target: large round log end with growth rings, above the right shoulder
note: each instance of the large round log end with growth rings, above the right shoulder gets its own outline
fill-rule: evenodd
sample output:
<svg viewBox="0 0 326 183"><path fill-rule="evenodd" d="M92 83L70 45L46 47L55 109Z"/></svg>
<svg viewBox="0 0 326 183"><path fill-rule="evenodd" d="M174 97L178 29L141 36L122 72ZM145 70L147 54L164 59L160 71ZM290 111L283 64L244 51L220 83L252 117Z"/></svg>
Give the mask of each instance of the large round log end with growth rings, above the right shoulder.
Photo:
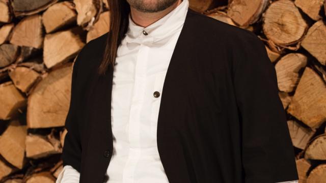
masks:
<svg viewBox="0 0 326 183"><path fill-rule="evenodd" d="M273 2L263 14L263 32L277 45L292 45L302 39L308 25L290 0Z"/></svg>

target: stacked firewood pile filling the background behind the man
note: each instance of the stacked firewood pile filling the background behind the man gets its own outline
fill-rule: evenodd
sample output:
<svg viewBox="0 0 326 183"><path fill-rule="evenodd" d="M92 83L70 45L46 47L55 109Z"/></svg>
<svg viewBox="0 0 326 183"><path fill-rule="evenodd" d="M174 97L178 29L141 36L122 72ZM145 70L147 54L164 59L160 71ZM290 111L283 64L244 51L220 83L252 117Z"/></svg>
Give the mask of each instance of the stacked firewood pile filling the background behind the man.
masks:
<svg viewBox="0 0 326 183"><path fill-rule="evenodd" d="M265 43L300 182L326 182L325 1L189 2ZM109 13L106 0L0 0L0 182L56 181L72 65L108 31Z"/></svg>

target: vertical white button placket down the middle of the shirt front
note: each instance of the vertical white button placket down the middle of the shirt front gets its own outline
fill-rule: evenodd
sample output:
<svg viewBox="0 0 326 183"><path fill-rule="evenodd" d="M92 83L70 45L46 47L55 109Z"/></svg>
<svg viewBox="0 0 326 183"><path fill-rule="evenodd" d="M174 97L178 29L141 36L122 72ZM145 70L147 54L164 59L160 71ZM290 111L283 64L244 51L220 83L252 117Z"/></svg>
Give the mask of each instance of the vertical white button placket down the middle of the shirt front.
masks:
<svg viewBox="0 0 326 183"><path fill-rule="evenodd" d="M134 182L134 171L141 157L141 110L144 101L148 47L141 44L135 64L134 87L130 104L128 125L129 155L126 162L123 180L125 183Z"/></svg>

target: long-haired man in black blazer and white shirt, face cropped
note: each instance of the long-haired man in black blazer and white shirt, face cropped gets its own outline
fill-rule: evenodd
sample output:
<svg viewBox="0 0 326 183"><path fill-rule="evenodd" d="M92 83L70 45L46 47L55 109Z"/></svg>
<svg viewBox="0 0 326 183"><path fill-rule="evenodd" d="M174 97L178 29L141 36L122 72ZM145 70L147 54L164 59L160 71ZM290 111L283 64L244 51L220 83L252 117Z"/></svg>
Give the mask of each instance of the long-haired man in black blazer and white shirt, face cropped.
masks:
<svg viewBox="0 0 326 183"><path fill-rule="evenodd" d="M297 182L277 78L251 32L188 0L109 1L73 66L57 182Z"/></svg>

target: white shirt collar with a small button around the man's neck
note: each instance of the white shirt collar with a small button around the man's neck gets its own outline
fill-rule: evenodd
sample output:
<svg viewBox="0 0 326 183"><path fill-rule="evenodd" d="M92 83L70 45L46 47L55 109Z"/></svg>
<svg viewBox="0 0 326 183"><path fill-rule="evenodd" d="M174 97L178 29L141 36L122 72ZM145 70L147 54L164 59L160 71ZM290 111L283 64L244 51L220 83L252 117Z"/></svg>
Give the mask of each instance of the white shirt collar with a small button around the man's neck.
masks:
<svg viewBox="0 0 326 183"><path fill-rule="evenodd" d="M169 38L182 27L188 6L188 0L182 0L180 5L175 9L147 27L135 24L129 13L129 25L125 38L126 42L154 43ZM143 31L145 31L147 35L144 35Z"/></svg>

